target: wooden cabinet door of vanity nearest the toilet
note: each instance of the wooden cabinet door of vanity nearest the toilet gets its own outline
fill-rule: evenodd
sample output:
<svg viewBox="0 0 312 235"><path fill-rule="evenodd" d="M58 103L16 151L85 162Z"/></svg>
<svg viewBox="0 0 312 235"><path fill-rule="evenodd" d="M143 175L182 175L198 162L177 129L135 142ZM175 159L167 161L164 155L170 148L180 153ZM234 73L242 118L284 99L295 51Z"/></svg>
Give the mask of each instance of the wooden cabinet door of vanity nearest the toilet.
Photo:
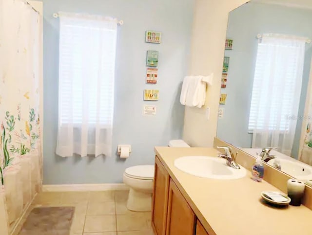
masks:
<svg viewBox="0 0 312 235"><path fill-rule="evenodd" d="M167 170L156 157L152 204L152 226L156 235L166 232L169 179Z"/></svg>

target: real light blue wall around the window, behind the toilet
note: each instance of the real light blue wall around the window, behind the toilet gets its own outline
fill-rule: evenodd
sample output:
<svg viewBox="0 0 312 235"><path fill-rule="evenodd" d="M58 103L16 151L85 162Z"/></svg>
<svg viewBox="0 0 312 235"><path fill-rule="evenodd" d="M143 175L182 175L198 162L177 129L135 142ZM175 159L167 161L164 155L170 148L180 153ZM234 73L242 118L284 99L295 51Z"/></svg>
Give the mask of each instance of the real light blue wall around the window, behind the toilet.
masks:
<svg viewBox="0 0 312 235"><path fill-rule="evenodd" d="M178 102L186 75L193 21L193 0L43 0L44 136L43 183L117 183L124 169L154 163L154 146L181 138L184 107ZM58 125L59 11L112 16L124 20L118 29L113 156L55 155ZM146 30L163 33L161 44L144 42ZM147 50L159 51L158 84L145 84ZM159 89L158 102L143 102L144 89ZM143 104L157 105L156 116L142 116ZM126 161L118 144L132 145Z"/></svg>

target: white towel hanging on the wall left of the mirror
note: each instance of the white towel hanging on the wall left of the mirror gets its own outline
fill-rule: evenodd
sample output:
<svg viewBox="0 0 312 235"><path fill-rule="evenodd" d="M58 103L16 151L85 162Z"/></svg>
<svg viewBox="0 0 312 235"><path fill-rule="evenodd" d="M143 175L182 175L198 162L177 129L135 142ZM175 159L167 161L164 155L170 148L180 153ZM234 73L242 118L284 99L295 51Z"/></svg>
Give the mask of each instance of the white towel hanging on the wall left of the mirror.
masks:
<svg viewBox="0 0 312 235"><path fill-rule="evenodd" d="M186 76L183 80L180 103L201 108L205 104L206 86L212 85L213 74L209 76Z"/></svg>

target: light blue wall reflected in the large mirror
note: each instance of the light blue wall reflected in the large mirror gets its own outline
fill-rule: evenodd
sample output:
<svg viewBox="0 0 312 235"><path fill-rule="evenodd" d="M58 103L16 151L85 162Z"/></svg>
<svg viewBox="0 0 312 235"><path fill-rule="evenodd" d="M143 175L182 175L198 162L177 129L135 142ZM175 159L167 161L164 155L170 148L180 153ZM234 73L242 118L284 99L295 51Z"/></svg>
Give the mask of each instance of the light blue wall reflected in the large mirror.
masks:
<svg viewBox="0 0 312 235"><path fill-rule="evenodd" d="M229 15L227 38L234 39L233 50L226 50L230 56L229 77L224 118L219 119L217 136L233 145L251 147L252 134L248 134L250 102L253 89L257 34L278 33L312 38L312 11L299 8L260 3L247 3ZM309 81L312 56L311 44L306 44L304 76L299 114L303 115ZM297 157L302 120L298 121L292 156Z"/></svg>

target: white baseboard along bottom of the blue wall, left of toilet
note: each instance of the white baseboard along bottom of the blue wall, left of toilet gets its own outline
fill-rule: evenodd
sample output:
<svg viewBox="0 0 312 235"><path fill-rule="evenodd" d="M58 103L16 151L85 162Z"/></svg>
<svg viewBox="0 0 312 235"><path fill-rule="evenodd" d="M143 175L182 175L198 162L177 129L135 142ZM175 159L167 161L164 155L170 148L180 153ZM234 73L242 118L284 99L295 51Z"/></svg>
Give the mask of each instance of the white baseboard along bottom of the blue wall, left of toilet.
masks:
<svg viewBox="0 0 312 235"><path fill-rule="evenodd" d="M128 190L124 183L45 184L43 192Z"/></svg>

